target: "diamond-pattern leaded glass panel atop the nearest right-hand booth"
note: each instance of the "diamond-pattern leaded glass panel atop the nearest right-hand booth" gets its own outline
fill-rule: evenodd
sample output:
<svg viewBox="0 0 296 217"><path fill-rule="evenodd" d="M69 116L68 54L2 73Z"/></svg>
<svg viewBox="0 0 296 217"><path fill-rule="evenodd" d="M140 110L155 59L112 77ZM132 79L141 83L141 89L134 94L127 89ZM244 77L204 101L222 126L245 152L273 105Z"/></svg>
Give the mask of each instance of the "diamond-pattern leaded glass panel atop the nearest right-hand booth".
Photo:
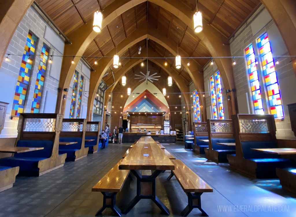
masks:
<svg viewBox="0 0 296 217"><path fill-rule="evenodd" d="M239 120L239 131L241 133L269 133L266 120Z"/></svg>

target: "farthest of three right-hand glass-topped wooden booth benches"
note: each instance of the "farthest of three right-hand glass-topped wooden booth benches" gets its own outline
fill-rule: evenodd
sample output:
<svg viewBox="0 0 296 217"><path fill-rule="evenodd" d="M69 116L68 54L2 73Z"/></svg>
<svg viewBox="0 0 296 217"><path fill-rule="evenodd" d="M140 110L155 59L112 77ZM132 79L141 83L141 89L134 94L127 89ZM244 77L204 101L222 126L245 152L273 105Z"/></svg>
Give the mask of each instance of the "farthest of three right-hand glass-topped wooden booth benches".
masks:
<svg viewBox="0 0 296 217"><path fill-rule="evenodd" d="M194 152L198 154L205 154L205 148L209 147L208 142L199 141L200 139L209 139L207 132L207 122L194 122Z"/></svg>

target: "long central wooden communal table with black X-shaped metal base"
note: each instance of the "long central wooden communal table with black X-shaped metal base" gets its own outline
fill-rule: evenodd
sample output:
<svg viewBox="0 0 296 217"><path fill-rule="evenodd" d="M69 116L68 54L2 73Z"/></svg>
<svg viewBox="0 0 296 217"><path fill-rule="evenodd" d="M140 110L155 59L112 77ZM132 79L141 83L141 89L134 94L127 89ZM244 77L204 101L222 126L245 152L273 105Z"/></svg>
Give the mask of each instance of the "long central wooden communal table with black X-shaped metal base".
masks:
<svg viewBox="0 0 296 217"><path fill-rule="evenodd" d="M155 195L155 179L163 170L174 170L175 165L168 156L161 150L150 136L142 136L136 145L119 165L121 170L130 170L137 178L136 197L128 205L123 213L128 213L141 199L151 199L166 215L170 215L168 208ZM139 170L154 170L152 175L141 175ZM149 189L141 187L147 186Z"/></svg>

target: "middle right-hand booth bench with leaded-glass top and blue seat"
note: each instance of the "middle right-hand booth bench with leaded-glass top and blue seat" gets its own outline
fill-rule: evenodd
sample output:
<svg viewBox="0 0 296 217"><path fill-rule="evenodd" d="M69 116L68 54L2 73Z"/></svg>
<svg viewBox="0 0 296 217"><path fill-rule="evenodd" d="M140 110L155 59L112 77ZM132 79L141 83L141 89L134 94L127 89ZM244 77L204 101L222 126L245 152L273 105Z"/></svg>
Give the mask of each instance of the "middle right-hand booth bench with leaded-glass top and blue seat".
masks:
<svg viewBox="0 0 296 217"><path fill-rule="evenodd" d="M227 162L227 154L235 154L235 147L217 143L235 143L231 119L207 120L209 147L205 148L206 157L215 162Z"/></svg>

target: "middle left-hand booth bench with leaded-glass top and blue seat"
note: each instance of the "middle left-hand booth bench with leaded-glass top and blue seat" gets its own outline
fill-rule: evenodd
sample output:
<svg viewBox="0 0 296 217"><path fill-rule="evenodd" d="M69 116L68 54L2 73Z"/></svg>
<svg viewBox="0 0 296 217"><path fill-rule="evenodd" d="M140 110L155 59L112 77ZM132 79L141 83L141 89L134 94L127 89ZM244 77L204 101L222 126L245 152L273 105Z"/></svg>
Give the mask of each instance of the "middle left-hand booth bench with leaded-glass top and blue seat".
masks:
<svg viewBox="0 0 296 217"><path fill-rule="evenodd" d="M87 156L88 147L84 147L86 119L63 118L60 142L76 142L70 145L59 145L59 154L67 153L66 161L75 161Z"/></svg>

